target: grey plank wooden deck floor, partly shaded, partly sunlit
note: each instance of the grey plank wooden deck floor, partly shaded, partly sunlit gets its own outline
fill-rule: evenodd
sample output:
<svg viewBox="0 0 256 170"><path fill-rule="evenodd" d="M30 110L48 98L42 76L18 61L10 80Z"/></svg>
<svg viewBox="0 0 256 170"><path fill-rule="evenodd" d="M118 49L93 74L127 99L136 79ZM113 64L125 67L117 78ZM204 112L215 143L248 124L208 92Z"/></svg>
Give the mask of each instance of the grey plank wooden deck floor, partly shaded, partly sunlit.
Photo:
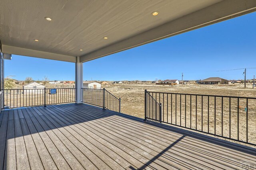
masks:
<svg viewBox="0 0 256 170"><path fill-rule="evenodd" d="M0 113L3 169L256 168L256 149L86 104Z"/></svg>

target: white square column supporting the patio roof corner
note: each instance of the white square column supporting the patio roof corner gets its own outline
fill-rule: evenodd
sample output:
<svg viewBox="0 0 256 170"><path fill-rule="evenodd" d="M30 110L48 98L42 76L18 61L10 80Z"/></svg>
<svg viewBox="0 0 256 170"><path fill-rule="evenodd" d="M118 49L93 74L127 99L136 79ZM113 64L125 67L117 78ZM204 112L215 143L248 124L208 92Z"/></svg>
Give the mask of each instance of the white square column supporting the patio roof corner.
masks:
<svg viewBox="0 0 256 170"><path fill-rule="evenodd" d="M82 102L83 87L83 63L80 62L80 57L76 60L76 103Z"/></svg>

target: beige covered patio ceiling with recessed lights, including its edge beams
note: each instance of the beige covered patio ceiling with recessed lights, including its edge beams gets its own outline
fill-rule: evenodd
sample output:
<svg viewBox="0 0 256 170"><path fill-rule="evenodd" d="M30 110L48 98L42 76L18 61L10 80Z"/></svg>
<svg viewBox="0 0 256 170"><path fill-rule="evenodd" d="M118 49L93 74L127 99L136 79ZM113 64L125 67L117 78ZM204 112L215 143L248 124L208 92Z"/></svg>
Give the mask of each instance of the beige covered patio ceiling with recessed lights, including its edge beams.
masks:
<svg viewBox="0 0 256 170"><path fill-rule="evenodd" d="M85 62L255 10L256 0L1 0L0 40L3 53Z"/></svg>

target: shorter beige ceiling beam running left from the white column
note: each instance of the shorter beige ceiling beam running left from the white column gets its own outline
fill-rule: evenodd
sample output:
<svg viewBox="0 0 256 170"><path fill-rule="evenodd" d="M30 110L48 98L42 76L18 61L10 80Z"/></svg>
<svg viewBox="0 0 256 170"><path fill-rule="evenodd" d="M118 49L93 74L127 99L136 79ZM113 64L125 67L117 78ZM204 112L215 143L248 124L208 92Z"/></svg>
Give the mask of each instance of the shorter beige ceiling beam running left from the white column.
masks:
<svg viewBox="0 0 256 170"><path fill-rule="evenodd" d="M2 45L2 53L76 63L76 57L73 57L73 56L61 55L56 53L48 53L45 51L37 51L32 49L24 49L20 47L9 46L9 45Z"/></svg>

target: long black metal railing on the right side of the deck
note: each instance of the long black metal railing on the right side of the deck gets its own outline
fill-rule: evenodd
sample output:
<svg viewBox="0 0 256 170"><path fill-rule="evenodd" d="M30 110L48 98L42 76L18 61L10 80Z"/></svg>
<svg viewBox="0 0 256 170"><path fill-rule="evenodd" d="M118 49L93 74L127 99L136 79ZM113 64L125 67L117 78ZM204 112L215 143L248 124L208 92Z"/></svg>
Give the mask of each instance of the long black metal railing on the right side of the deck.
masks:
<svg viewBox="0 0 256 170"><path fill-rule="evenodd" d="M145 90L145 120L256 145L256 98Z"/></svg>

